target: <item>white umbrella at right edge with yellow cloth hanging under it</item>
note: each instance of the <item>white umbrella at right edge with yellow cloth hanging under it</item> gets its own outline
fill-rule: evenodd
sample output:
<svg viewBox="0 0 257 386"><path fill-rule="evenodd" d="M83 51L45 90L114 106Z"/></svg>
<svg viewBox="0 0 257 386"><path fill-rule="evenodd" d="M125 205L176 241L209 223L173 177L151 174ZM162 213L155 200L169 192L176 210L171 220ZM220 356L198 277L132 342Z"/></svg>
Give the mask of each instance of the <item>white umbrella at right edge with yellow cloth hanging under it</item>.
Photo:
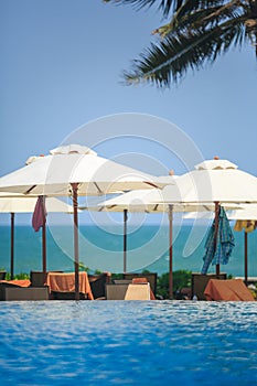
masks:
<svg viewBox="0 0 257 386"><path fill-rule="evenodd" d="M240 210L228 214L229 219L236 219L235 230L244 229L245 248L245 283L248 281L248 233L253 232L257 225L257 204L243 204Z"/></svg>

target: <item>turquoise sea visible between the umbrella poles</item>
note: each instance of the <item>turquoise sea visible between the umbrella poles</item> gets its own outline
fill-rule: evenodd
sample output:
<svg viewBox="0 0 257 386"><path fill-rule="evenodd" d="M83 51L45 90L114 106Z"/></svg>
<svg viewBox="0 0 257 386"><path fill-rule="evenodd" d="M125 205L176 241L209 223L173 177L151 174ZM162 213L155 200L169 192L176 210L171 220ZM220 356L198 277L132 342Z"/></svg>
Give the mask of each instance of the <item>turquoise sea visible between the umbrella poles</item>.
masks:
<svg viewBox="0 0 257 386"><path fill-rule="evenodd" d="M203 266L206 226L173 227L173 270L200 272ZM221 271L244 277L244 233L234 232L235 247ZM18 225L14 228L14 274L42 269L41 230ZM0 226L0 269L10 271L10 227ZM46 232L47 270L72 271L73 228L52 225ZM120 226L79 226L79 261L95 270L122 272L124 236ZM158 275L169 271L169 226L128 227L127 271L148 269ZM210 274L215 272L211 266ZM248 276L257 277L257 232L248 234Z"/></svg>

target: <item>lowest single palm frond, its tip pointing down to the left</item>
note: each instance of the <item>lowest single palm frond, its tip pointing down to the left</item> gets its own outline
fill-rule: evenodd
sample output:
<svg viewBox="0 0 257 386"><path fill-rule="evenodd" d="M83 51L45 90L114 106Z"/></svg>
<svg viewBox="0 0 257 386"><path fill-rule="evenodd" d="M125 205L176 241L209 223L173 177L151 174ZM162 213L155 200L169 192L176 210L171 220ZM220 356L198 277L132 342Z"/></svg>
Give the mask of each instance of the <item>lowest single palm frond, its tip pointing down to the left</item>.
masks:
<svg viewBox="0 0 257 386"><path fill-rule="evenodd" d="M199 69L206 62L213 63L232 44L244 41L244 18L228 20L208 31L182 32L167 36L159 45L151 47L133 62L131 72L125 72L127 84L154 83L169 87L190 68Z"/></svg>

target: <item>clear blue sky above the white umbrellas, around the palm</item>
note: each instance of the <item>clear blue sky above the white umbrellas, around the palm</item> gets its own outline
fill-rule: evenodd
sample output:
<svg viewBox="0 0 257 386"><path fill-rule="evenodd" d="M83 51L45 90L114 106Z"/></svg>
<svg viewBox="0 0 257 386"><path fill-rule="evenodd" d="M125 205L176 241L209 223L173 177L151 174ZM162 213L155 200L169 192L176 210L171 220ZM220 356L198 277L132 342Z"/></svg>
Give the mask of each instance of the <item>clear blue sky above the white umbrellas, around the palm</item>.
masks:
<svg viewBox="0 0 257 386"><path fill-rule="evenodd" d="M137 154L126 162L138 169L140 157L149 157L148 172L157 175L186 171L184 158L192 149L257 175L251 46L231 50L170 89L122 83L122 71L158 39L151 31L164 22L156 9L135 11L101 0L1 0L0 175L77 138L84 144L88 139L101 157ZM126 126L130 117L138 137ZM148 128L147 117L154 127ZM179 151L174 127L186 139Z"/></svg>

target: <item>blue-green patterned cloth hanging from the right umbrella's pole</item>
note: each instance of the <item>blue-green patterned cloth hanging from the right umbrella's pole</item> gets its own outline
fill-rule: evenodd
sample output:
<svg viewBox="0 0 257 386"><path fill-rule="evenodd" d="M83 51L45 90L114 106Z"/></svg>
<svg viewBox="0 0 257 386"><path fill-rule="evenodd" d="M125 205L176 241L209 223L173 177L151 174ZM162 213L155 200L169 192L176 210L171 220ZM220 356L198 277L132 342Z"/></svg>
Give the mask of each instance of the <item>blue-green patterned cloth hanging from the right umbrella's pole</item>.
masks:
<svg viewBox="0 0 257 386"><path fill-rule="evenodd" d="M202 274L206 275L210 265L227 264L232 255L232 250L235 246L234 236L229 222L226 216L226 212L223 207L219 207L218 214L218 229L215 237L215 221L213 222L207 239L205 242L205 256L203 257L204 265Z"/></svg>

